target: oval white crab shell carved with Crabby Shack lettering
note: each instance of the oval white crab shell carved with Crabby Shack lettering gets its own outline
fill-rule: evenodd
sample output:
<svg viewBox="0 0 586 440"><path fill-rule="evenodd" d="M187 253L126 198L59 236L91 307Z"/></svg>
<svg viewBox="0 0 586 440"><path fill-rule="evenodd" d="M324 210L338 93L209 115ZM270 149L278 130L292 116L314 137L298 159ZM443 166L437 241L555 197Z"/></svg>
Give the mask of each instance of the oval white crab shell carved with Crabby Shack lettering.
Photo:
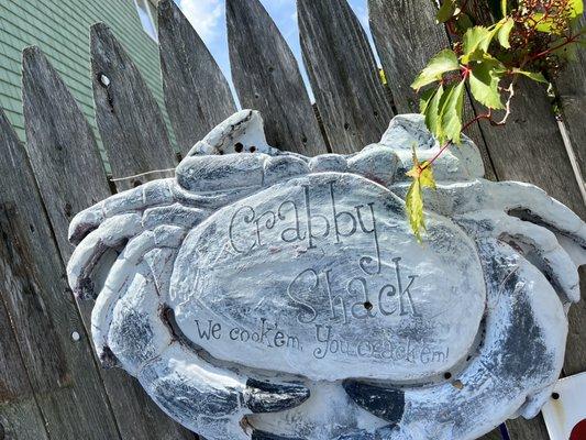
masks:
<svg viewBox="0 0 586 440"><path fill-rule="evenodd" d="M191 230L169 307L219 360L313 381L430 380L465 361L486 294L473 241L446 218L428 224L422 245L402 200L354 174L285 180Z"/></svg>

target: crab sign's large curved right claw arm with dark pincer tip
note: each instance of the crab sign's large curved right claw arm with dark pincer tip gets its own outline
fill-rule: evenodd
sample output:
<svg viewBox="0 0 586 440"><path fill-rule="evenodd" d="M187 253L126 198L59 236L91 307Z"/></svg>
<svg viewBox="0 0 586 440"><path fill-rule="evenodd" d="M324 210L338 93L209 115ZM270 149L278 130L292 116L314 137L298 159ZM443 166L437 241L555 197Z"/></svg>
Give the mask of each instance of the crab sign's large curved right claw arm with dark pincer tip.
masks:
<svg viewBox="0 0 586 440"><path fill-rule="evenodd" d="M349 381L357 405L389 424L380 440L475 439L493 420L534 417L557 380L565 312L544 276L509 245L478 241L487 282L485 336L449 382L410 388ZM489 414L488 414L489 413Z"/></svg>

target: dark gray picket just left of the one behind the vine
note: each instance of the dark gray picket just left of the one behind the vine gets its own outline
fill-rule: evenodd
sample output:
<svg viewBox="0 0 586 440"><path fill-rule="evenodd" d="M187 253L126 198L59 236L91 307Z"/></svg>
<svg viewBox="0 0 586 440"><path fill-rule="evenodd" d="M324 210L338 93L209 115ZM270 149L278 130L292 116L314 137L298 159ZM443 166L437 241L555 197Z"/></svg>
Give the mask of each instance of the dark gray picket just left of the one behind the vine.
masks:
<svg viewBox="0 0 586 440"><path fill-rule="evenodd" d="M371 44L346 0L298 0L303 61L335 153L380 141L392 118Z"/></svg>

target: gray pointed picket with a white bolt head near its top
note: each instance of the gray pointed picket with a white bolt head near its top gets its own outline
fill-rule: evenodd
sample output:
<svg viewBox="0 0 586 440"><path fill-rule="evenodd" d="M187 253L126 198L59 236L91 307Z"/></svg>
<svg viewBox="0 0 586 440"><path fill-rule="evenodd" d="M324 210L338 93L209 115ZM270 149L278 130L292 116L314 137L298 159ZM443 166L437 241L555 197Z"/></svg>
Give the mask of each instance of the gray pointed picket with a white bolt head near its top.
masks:
<svg viewBox="0 0 586 440"><path fill-rule="evenodd" d="M112 174L126 177L175 166L161 109L139 69L103 23L91 28L91 68L96 120ZM153 174L120 182L119 189L140 185Z"/></svg>

